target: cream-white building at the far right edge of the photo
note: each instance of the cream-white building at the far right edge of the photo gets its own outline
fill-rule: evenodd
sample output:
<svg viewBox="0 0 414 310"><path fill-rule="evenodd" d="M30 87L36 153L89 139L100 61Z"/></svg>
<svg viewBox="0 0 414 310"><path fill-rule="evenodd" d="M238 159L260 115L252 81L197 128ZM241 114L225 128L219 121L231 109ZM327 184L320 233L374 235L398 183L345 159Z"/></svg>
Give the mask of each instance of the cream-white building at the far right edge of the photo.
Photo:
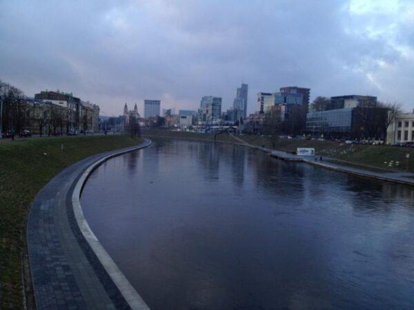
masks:
<svg viewBox="0 0 414 310"><path fill-rule="evenodd" d="M414 142L414 111L397 114L386 132L386 143L404 142Z"/></svg>

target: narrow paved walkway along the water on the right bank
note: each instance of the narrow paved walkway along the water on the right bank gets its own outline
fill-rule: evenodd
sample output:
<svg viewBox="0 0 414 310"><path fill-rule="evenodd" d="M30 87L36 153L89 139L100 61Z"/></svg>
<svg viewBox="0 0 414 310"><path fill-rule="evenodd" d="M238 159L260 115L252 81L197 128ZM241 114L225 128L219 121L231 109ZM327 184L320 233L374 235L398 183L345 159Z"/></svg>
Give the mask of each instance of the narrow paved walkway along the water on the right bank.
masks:
<svg viewBox="0 0 414 310"><path fill-rule="evenodd" d="M402 183L406 185L414 185L414 173L412 172L374 172L371 170L366 170L357 167L350 167L346 165L341 165L340 163L332 163L328 161L315 161L315 158L319 158L319 156L297 156L294 154L290 154L288 152L277 151L275 149L269 149L268 147L259 147L257 145L252 145L247 143L246 141L242 140L237 136L232 135L235 140L239 141L240 144L246 145L249 147L253 147L255 149L260 149L266 153L269 153L277 158L286 160L286 161L302 161L304 163L308 163L311 165L317 165L319 167L333 169L339 172L346 172L348 174L355 174L357 176L364 176L367 178L376 178L379 180L386 180L395 183ZM331 159L326 158L325 159ZM378 169L380 170L380 169Z"/></svg>

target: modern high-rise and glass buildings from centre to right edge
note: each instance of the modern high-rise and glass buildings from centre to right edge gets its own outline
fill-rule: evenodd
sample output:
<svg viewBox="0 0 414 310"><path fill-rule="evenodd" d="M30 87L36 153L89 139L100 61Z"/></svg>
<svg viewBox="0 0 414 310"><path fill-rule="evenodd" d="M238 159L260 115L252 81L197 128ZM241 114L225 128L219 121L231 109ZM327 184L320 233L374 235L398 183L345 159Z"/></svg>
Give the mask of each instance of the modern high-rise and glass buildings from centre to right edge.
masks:
<svg viewBox="0 0 414 310"><path fill-rule="evenodd" d="M139 124L197 132L231 126L250 134L353 140L384 141L388 134L388 143L414 141L413 114L397 113L397 107L380 103L375 96L319 96L312 103L310 98L311 89L307 87L284 86L277 92L258 92L257 111L248 115L248 85L242 83L226 111L220 96L202 96L197 111L177 113L175 107L169 107L162 109L161 115L160 101L146 100ZM398 121L400 118L402 121Z"/></svg>

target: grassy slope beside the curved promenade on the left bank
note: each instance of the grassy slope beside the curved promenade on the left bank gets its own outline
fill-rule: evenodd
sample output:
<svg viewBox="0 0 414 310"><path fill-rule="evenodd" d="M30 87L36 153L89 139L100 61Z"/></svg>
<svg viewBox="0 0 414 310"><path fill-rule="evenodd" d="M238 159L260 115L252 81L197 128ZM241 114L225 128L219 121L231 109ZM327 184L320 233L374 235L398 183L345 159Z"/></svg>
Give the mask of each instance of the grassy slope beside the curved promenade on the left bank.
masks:
<svg viewBox="0 0 414 310"><path fill-rule="evenodd" d="M21 254L28 209L37 192L82 158L140 142L129 136L79 136L0 143L0 309L23 304Z"/></svg>

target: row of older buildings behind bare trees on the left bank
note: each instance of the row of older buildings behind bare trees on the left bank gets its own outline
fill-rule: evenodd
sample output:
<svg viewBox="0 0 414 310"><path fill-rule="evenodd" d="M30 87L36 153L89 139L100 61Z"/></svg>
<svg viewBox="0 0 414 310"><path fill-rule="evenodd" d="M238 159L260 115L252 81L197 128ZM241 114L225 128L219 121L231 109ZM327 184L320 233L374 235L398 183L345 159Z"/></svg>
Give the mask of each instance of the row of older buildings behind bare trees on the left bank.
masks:
<svg viewBox="0 0 414 310"><path fill-rule="evenodd" d="M72 93L44 90L34 97L1 83L1 136L99 131L99 106Z"/></svg>

